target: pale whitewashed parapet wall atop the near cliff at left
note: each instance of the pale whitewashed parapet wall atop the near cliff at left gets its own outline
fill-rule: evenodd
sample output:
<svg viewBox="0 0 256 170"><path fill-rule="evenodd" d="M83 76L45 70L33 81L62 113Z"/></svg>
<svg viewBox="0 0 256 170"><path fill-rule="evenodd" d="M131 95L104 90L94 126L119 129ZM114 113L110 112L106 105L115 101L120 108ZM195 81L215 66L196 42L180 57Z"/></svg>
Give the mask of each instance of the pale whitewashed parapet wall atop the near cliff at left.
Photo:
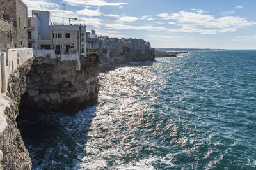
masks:
<svg viewBox="0 0 256 170"><path fill-rule="evenodd" d="M1 52L1 92L6 92L8 78L20 65L33 57L32 48L10 49Z"/></svg>

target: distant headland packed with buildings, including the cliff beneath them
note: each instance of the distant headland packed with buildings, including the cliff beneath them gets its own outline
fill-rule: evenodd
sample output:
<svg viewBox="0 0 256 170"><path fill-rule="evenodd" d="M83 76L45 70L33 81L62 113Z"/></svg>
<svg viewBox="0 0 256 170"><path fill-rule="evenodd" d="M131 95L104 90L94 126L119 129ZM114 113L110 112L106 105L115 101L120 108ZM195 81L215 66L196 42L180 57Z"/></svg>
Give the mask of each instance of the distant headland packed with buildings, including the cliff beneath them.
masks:
<svg viewBox="0 0 256 170"><path fill-rule="evenodd" d="M86 47L100 53L100 69L108 70L124 62L148 61L155 59L155 50L143 39L113 38L97 36L95 30L86 32Z"/></svg>

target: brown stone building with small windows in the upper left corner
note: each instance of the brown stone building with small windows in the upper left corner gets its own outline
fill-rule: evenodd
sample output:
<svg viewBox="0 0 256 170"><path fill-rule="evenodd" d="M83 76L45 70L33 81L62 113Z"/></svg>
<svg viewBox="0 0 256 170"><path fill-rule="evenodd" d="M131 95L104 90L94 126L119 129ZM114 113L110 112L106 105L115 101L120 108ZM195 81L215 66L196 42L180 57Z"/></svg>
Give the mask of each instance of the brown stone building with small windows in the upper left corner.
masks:
<svg viewBox="0 0 256 170"><path fill-rule="evenodd" d="M0 0L0 18L0 49L28 47L26 4L21 0Z"/></svg>

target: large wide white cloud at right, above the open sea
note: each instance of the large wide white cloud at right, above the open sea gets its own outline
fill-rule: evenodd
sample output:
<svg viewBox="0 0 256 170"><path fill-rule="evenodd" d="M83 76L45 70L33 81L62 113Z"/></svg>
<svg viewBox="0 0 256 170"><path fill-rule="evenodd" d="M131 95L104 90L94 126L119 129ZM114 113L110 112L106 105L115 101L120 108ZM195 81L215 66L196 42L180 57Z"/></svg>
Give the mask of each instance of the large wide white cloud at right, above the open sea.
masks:
<svg viewBox="0 0 256 170"><path fill-rule="evenodd" d="M247 21L246 18L225 16L215 18L213 15L180 11L179 13L160 13L157 15L165 20L173 20L169 24L179 26L171 32L198 32L199 34L216 34L234 32L255 25L256 22Z"/></svg>

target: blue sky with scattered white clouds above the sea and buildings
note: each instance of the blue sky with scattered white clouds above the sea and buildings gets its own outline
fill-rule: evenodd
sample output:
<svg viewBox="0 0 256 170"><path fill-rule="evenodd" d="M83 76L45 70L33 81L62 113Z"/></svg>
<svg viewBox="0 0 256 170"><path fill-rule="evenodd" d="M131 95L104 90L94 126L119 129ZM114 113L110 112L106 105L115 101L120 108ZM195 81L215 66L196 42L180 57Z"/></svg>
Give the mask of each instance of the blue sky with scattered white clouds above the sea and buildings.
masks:
<svg viewBox="0 0 256 170"><path fill-rule="evenodd" d="M100 36L142 38L152 47L256 49L255 0L22 0L51 22L86 24ZM65 24L68 20L65 19Z"/></svg>

